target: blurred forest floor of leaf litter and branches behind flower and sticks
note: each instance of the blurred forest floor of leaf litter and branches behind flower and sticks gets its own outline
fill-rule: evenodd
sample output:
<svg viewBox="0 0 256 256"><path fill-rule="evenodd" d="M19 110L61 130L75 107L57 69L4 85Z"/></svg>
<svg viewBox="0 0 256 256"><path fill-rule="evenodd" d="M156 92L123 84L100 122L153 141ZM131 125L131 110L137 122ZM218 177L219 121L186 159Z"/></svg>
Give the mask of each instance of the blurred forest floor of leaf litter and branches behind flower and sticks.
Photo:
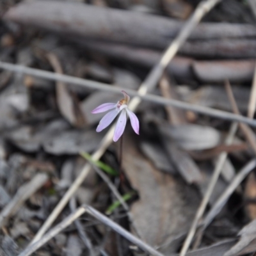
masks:
<svg viewBox="0 0 256 256"><path fill-rule="evenodd" d="M0 255L18 255L28 246L100 147L108 129L95 131L104 114L92 115L92 109L122 99L122 93L44 79L36 70L120 92L138 90L198 3L0 0ZM253 118L255 22L256 1L220 1L150 93ZM11 72L1 63L35 68L34 74ZM179 255L219 164L201 218L204 228L196 230L188 255L254 255L255 129L144 100L135 112L140 136L128 122L122 151L120 141L112 143L100 159L100 172L127 207L116 203L108 182L92 168L56 223L79 205L92 205L164 255ZM227 154L222 164L220 154ZM231 192L224 195L227 188ZM237 234L244 243L236 244ZM35 255L147 253L83 215Z"/></svg>

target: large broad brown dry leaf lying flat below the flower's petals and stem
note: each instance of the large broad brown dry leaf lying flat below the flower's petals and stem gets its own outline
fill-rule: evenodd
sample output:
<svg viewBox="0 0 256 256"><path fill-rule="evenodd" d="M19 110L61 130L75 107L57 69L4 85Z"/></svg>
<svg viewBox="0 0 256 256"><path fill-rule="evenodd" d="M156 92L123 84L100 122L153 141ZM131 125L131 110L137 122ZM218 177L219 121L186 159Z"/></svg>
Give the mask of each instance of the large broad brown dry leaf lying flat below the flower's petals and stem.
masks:
<svg viewBox="0 0 256 256"><path fill-rule="evenodd" d="M131 137L125 140L124 170L140 196L131 212L142 239L152 246L165 244L162 251L173 252L175 248L168 248L168 244L188 230L195 214L199 202L195 191L154 168Z"/></svg>

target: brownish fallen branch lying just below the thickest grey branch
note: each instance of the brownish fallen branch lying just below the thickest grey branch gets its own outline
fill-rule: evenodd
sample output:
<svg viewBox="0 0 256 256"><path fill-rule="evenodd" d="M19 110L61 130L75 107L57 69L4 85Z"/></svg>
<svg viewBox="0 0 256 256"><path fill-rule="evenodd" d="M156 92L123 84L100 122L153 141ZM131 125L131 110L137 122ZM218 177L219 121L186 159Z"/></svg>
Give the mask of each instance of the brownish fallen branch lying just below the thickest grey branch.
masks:
<svg viewBox="0 0 256 256"><path fill-rule="evenodd" d="M97 54L103 54L108 58L118 61L129 61L146 68L153 67L161 57L161 52L152 49L111 44L97 40L78 40L76 38L72 38L72 42L76 42L76 45L81 47L81 49L86 49L88 54L90 52L97 52ZM225 52L227 52L227 49L225 49L223 54ZM236 52L240 51L232 50L230 54L232 52L237 54ZM223 56L225 55L221 57ZM225 79L239 83L252 80L254 67L255 60L194 61L191 58L176 56L168 65L166 71L181 83L184 83L184 81L189 83L189 80L193 81L195 77L204 83L223 83Z"/></svg>

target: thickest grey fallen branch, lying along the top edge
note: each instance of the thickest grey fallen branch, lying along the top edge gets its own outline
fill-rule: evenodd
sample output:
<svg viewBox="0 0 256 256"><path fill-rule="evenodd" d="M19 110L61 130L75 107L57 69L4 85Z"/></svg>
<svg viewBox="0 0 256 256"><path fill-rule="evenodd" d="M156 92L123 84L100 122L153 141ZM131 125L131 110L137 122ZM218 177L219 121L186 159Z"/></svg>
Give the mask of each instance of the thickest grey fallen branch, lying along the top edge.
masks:
<svg viewBox="0 0 256 256"><path fill-rule="evenodd" d="M208 12L207 8L201 10ZM141 15L136 12L59 1L23 2L10 8L4 19L62 35L86 36L160 49L167 47L184 26L183 22L157 15ZM255 26L204 23L189 33L189 38L198 40L246 36L256 36Z"/></svg>

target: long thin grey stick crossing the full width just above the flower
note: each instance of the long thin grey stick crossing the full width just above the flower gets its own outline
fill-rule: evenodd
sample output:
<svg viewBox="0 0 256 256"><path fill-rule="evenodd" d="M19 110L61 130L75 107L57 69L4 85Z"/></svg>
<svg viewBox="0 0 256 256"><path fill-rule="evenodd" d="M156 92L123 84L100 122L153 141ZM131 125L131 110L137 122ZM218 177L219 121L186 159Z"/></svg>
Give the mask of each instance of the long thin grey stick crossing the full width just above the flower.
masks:
<svg viewBox="0 0 256 256"><path fill-rule="evenodd" d="M120 91L123 89L129 95L138 96L141 99L147 100L149 102L154 102L156 104L161 104L164 106L173 106L175 108L194 111L196 113L200 113L203 115L209 115L209 116L213 116L216 118L221 118L224 120L244 122L246 124L256 127L256 121L252 120L250 118L246 118L245 116L234 115L233 113L228 113L226 111L221 111L218 109L207 108L204 106L196 106L194 104L189 104L187 102L182 102L180 100L164 99L164 97L152 95L152 94L142 95L134 90L122 88L119 86L111 86L109 84L104 84L104 83L99 83L96 81L81 79L79 77L72 77L72 76L67 76L67 75L63 75L63 74L56 74L53 72L39 70L36 68L29 68L29 67L24 67L21 65L4 63L2 61L0 61L0 68L4 68L6 70L11 70L13 72L20 72L23 74L28 74L31 76L42 77L42 78L50 79L50 80L54 80L54 81L62 81L65 83L77 84L80 86L84 86L86 88L92 88L93 90L97 89L97 90L102 90L105 92L120 93Z"/></svg>

